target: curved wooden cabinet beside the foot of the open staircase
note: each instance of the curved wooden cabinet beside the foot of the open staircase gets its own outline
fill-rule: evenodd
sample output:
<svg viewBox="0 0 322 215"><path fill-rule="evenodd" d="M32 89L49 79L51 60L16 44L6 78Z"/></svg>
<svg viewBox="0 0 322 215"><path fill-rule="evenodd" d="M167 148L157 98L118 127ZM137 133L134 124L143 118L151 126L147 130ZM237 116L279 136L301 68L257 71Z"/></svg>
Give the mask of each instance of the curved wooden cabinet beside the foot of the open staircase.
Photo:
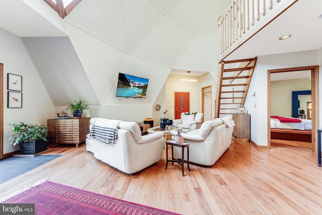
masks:
<svg viewBox="0 0 322 215"><path fill-rule="evenodd" d="M233 135L237 137L237 141L249 142L251 140L251 115L250 114L232 114L235 122Z"/></svg>

